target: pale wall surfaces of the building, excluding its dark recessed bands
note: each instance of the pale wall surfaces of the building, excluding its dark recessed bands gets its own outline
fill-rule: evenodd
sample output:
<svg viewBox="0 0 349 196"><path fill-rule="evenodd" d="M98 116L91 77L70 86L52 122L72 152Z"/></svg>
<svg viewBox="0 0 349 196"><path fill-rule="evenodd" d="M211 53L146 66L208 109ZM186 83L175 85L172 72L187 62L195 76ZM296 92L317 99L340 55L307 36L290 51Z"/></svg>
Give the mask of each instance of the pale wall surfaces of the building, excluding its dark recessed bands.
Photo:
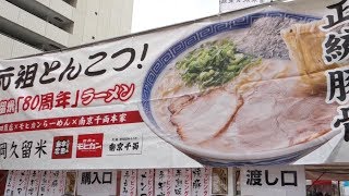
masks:
<svg viewBox="0 0 349 196"><path fill-rule="evenodd" d="M4 17L65 47L73 47L131 33L133 0L77 0L75 8L62 0L33 1L37 1L73 21L73 30L68 33L58 28L8 1L1 1L0 17ZM22 46L22 42L12 40L10 37L3 37L2 35L0 36L0 44L9 47L2 47L0 49L0 58L39 52L39 50L32 47L27 49L27 45ZM93 39L93 37L95 39ZM20 48L16 49L15 47Z"/></svg>

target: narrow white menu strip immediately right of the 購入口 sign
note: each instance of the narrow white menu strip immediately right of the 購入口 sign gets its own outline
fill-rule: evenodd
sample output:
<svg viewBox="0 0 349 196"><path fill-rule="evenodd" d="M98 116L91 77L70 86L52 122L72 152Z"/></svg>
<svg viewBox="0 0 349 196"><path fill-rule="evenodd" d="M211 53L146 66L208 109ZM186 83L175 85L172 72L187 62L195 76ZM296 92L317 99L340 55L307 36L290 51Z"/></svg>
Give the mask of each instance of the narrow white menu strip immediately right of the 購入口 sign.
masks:
<svg viewBox="0 0 349 196"><path fill-rule="evenodd" d="M136 196L137 194L137 170L122 170L120 196Z"/></svg>

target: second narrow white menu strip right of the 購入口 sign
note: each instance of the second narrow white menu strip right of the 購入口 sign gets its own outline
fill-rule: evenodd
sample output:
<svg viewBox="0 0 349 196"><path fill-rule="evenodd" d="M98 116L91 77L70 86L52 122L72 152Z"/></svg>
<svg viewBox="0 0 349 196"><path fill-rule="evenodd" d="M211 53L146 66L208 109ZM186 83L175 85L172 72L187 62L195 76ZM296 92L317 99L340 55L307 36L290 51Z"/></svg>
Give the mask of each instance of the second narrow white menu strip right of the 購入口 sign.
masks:
<svg viewBox="0 0 349 196"><path fill-rule="evenodd" d="M137 170L137 194L154 195L154 169Z"/></svg>

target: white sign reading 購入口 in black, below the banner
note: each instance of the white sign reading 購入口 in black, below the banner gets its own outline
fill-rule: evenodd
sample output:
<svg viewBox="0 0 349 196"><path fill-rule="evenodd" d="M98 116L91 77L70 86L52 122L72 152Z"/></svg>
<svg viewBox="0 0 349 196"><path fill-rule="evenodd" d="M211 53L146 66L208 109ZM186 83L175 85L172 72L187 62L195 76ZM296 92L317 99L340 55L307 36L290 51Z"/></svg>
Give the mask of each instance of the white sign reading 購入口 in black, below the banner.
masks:
<svg viewBox="0 0 349 196"><path fill-rule="evenodd" d="M77 195L117 195L117 171L83 170L77 175Z"/></svg>

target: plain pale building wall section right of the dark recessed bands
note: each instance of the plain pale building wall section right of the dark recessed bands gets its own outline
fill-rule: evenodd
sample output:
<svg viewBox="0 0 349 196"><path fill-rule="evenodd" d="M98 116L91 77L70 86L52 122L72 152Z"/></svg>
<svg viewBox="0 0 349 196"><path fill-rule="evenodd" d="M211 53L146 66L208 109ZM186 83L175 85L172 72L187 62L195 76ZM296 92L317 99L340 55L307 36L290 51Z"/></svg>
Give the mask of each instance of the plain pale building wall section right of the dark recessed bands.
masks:
<svg viewBox="0 0 349 196"><path fill-rule="evenodd" d="M86 44L129 34L132 11L133 1L130 0L79 0L74 13L76 26L72 36L82 36L80 44ZM84 27L81 24L84 24Z"/></svg>

